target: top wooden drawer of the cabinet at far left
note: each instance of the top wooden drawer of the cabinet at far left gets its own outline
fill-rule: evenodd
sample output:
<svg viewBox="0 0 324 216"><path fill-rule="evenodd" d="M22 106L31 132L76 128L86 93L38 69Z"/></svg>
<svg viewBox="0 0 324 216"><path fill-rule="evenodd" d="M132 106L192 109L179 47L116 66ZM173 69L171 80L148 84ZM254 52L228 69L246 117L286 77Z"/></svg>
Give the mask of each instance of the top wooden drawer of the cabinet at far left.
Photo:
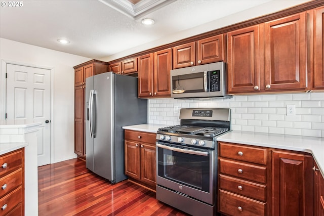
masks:
<svg viewBox="0 0 324 216"><path fill-rule="evenodd" d="M0 157L0 176L22 166L22 150L15 151ZM4 166L5 167L4 168Z"/></svg>

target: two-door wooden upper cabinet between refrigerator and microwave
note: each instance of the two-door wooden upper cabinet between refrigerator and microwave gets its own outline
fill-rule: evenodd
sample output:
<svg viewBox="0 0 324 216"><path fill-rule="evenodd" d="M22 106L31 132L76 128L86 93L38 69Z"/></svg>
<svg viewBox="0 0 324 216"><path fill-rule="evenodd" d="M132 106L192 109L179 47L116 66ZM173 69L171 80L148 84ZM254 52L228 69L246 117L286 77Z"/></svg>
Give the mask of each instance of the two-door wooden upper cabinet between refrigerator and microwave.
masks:
<svg viewBox="0 0 324 216"><path fill-rule="evenodd" d="M138 97L170 97L172 49L146 54L138 59Z"/></svg>

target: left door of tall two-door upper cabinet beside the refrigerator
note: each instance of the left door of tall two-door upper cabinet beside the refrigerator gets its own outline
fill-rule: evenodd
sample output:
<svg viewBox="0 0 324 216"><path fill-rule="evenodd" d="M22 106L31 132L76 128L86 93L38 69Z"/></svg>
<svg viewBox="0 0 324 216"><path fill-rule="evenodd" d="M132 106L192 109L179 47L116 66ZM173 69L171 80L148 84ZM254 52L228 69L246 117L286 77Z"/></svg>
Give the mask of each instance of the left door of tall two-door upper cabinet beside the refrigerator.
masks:
<svg viewBox="0 0 324 216"><path fill-rule="evenodd" d="M150 97L153 92L153 53L138 57L138 97Z"/></svg>

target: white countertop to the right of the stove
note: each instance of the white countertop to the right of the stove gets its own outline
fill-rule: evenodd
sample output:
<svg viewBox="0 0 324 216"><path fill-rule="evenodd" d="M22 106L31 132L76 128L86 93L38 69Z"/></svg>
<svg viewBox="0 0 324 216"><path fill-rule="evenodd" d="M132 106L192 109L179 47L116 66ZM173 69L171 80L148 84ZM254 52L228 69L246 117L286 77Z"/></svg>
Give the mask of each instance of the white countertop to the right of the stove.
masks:
<svg viewBox="0 0 324 216"><path fill-rule="evenodd" d="M308 152L324 176L324 138L231 131L217 141Z"/></svg>

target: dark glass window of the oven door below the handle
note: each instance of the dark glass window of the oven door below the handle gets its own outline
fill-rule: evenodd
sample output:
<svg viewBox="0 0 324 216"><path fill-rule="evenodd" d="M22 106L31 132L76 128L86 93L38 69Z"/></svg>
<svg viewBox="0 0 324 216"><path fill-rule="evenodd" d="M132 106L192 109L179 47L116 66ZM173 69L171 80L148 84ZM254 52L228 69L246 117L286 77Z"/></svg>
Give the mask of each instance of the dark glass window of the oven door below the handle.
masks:
<svg viewBox="0 0 324 216"><path fill-rule="evenodd" d="M209 192L210 156L158 148L158 176Z"/></svg>

